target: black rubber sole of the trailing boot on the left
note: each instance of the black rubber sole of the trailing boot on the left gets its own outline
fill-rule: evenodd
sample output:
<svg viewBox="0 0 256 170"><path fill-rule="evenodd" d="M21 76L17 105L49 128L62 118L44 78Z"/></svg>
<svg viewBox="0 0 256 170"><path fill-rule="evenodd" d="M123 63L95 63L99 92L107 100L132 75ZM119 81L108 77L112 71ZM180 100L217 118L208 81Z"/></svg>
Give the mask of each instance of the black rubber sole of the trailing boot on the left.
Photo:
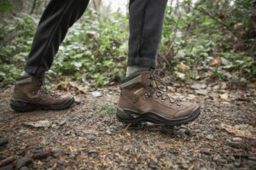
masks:
<svg viewBox="0 0 256 170"><path fill-rule="evenodd" d="M11 99L10 107L17 112L28 112L28 111L35 111L38 109L45 110L45 111L60 111L60 110L67 109L70 105L73 105L73 103L74 103L74 98L68 99L66 102L62 103L61 105L38 105L38 104L31 104L26 101Z"/></svg>

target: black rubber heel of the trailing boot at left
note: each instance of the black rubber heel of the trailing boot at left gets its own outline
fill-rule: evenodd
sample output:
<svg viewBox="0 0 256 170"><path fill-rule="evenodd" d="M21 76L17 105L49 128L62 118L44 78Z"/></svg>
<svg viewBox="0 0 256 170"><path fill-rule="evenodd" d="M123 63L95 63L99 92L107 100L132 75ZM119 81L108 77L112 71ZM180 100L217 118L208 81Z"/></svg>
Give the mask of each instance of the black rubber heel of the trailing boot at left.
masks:
<svg viewBox="0 0 256 170"><path fill-rule="evenodd" d="M17 112L35 111L38 109L37 105L32 105L25 101L11 99L10 107Z"/></svg>

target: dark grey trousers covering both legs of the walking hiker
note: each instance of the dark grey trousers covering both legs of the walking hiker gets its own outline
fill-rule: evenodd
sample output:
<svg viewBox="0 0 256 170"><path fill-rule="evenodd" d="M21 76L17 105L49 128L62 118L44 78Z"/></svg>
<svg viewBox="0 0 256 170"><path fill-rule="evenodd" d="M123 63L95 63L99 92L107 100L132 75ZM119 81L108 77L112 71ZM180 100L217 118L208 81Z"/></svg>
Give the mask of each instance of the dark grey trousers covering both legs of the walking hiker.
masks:
<svg viewBox="0 0 256 170"><path fill-rule="evenodd" d="M69 27L90 0L51 0L39 22L25 71L44 77ZM130 0L128 65L156 67L167 0Z"/></svg>

